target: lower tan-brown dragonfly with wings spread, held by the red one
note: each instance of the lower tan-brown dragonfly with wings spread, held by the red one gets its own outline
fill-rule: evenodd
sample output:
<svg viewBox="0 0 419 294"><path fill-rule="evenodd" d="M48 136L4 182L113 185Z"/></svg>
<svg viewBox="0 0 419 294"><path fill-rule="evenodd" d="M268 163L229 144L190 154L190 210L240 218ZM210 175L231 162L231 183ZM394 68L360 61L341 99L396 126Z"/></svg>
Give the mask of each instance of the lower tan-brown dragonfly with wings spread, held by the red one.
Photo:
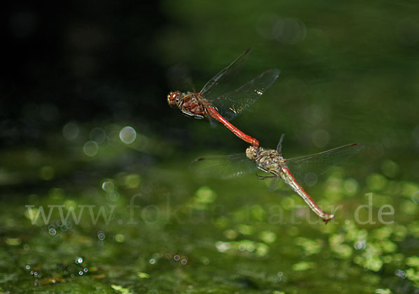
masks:
<svg viewBox="0 0 419 294"><path fill-rule="evenodd" d="M230 179L249 172L263 170L270 175L258 175L258 178L272 177L271 189L278 184L278 179L283 179L320 219L328 223L335 218L335 215L324 212L309 196L309 193L302 188L300 182L307 180L309 175L316 175L315 172L320 175L332 166L351 158L364 145L352 143L318 154L285 159L282 155L283 140L284 135L281 135L277 149L265 149L252 145L246 149L245 154L201 157L192 161L190 168L198 174L211 175L221 179Z"/></svg>

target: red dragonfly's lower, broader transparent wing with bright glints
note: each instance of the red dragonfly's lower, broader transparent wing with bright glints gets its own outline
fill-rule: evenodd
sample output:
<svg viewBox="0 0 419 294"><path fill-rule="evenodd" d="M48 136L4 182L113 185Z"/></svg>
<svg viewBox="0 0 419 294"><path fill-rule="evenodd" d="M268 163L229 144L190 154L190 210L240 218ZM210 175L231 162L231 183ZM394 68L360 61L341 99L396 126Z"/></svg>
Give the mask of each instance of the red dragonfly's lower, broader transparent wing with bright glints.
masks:
<svg viewBox="0 0 419 294"><path fill-rule="evenodd" d="M265 71L234 91L211 99L210 102L225 119L233 119L240 112L258 101L265 90L271 87L277 80L279 73L281 72L278 69Z"/></svg>

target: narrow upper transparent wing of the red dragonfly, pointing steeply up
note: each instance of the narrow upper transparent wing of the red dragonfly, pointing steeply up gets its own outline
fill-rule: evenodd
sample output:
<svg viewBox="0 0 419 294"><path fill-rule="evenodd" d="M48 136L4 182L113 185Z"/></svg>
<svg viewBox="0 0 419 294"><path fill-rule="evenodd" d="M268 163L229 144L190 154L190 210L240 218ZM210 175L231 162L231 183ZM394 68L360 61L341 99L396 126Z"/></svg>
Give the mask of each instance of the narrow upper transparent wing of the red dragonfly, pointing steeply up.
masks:
<svg viewBox="0 0 419 294"><path fill-rule="evenodd" d="M214 77L205 84L203 89L200 91L200 94L205 96L206 98L216 97L223 93L223 89L217 87L219 84L227 84L228 80L237 73L240 68L242 68L244 61L246 61L249 53L251 52L250 49L244 51L242 55L237 57L235 61L233 61L229 66L224 68L222 71L214 75Z"/></svg>

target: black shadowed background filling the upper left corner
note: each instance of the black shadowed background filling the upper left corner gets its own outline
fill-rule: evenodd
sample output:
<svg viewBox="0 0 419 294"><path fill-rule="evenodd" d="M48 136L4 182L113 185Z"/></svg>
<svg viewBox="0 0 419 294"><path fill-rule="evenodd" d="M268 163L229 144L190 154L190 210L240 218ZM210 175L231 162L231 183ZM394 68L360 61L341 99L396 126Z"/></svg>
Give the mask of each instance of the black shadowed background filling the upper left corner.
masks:
<svg viewBox="0 0 419 294"><path fill-rule="evenodd" d="M7 145L42 142L47 130L69 120L151 121L157 109L167 117L166 69L151 46L167 22L159 1L5 6L0 89Z"/></svg>

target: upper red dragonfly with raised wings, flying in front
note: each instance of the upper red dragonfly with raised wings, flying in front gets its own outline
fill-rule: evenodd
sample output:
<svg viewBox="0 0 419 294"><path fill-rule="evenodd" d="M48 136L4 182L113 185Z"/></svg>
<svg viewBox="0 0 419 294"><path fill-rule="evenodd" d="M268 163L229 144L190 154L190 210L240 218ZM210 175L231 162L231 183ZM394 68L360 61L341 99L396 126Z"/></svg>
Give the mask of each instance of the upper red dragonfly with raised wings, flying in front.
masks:
<svg viewBox="0 0 419 294"><path fill-rule="evenodd" d="M229 66L214 75L198 93L171 91L167 96L170 107L179 110L188 117L196 119L215 119L226 126L237 137L253 146L259 146L258 140L240 131L229 121L243 110L253 105L266 89L277 80L280 71L265 71L236 89L230 90L230 80L239 71L247 59L250 49L243 52Z"/></svg>

